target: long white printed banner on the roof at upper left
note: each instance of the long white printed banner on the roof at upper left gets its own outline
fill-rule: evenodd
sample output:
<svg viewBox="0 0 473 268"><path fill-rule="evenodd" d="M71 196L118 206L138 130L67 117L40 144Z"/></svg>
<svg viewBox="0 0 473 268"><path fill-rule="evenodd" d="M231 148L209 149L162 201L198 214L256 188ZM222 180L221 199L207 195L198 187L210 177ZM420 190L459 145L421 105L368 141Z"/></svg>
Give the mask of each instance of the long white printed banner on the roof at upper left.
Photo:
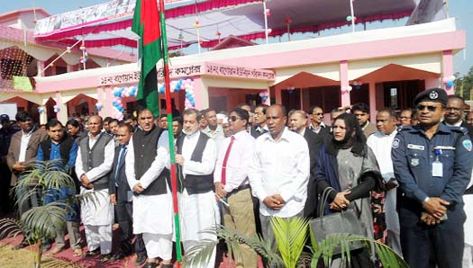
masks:
<svg viewBox="0 0 473 268"><path fill-rule="evenodd" d="M193 2L190 0L165 0L165 4ZM91 25L97 22L132 18L136 0L114 0L104 4L96 4L77 9L68 13L60 13L36 22L34 34L47 35L53 32L66 31Z"/></svg>

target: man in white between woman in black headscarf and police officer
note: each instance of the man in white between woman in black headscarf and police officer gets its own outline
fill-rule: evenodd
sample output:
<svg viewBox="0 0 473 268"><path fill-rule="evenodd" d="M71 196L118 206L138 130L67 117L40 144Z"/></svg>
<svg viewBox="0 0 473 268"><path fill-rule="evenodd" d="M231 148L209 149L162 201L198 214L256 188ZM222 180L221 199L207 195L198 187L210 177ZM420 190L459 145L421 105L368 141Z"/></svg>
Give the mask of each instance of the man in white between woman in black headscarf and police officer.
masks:
<svg viewBox="0 0 473 268"><path fill-rule="evenodd" d="M381 109L376 116L377 132L370 135L367 140L368 147L373 150L376 156L377 165L387 187L395 186L393 161L391 159L391 147L396 137L396 113L388 108ZM391 186L392 185L392 186ZM399 217L396 211L396 187L388 190L386 203L386 225L387 225L387 245L391 246L397 254L402 255L401 240L399 237Z"/></svg>

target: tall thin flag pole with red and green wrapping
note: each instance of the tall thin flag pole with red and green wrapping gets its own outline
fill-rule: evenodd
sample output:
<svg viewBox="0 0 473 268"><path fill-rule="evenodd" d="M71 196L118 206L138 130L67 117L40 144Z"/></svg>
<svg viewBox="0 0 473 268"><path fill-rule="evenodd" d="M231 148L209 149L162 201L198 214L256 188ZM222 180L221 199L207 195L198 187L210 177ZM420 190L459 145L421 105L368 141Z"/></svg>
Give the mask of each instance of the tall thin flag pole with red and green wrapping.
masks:
<svg viewBox="0 0 473 268"><path fill-rule="evenodd" d="M176 175L176 153L174 149L174 135L172 133L172 103L171 90L169 81L169 55L168 55L168 37L166 34L166 15L164 12L164 0L159 0L159 24L161 29L161 43L163 51L163 70L164 84L166 89L166 112L168 113L168 135L169 135L169 155L171 159L171 185L172 185L172 202L174 207L174 225L176 228L176 255L177 267L182 262L181 252L181 234L179 224L179 206L177 203L177 175Z"/></svg>

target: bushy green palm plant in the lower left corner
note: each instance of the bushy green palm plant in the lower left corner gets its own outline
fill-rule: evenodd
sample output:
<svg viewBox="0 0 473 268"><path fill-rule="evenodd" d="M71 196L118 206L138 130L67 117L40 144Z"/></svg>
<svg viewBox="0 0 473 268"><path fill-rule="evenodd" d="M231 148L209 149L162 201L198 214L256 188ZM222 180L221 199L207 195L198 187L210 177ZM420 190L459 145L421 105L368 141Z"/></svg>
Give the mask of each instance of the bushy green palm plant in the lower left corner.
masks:
<svg viewBox="0 0 473 268"><path fill-rule="evenodd" d="M76 187L74 178L61 166L62 160L38 161L30 165L23 179L15 186L16 206L38 197L38 206L23 213L21 219L0 219L0 237L16 237L23 234L33 246L34 268L41 267L41 243L56 237L58 230L65 226L68 213L75 213L72 204L91 200L91 193L61 195L64 189ZM70 171L69 171L70 172ZM47 201L47 199L50 201ZM60 267L62 263L55 264Z"/></svg>

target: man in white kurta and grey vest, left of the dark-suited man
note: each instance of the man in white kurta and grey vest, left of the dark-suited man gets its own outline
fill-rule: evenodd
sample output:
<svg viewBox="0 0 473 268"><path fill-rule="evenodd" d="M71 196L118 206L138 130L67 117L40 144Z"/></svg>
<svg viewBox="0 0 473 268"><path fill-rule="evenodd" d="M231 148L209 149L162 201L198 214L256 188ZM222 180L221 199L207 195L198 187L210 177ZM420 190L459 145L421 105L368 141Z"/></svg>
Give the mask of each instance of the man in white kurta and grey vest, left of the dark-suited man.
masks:
<svg viewBox="0 0 473 268"><path fill-rule="evenodd" d="M95 192L94 200L81 202L80 218L86 229L86 256L102 255L107 261L112 255L112 224L114 206L108 193L108 173L114 164L114 138L102 131L102 118L88 119L88 135L79 141L76 174L82 184L80 193Z"/></svg>

